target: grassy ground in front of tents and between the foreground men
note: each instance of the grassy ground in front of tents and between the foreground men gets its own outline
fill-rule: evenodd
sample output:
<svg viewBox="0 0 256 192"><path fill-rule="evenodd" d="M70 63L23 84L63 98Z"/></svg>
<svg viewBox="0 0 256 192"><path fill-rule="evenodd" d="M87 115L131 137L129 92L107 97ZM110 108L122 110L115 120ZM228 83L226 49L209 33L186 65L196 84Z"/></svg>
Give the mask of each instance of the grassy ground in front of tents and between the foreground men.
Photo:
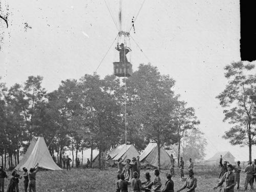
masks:
<svg viewBox="0 0 256 192"><path fill-rule="evenodd" d="M154 178L153 170L147 170L150 172L152 179ZM146 170L141 170L141 180L144 180L144 173ZM168 170L165 170L168 172ZM179 174L179 172L176 172ZM8 172L8 176L10 176ZM97 170L97 169L76 169L73 168L71 171L61 170L61 171L40 171L36 175L36 190L41 191L77 191L77 192L115 192L115 182L116 182L117 169L110 170ZM162 188L164 187L166 178L165 174L160 174L162 181ZM185 173L185 177L187 177ZM219 179L211 174L197 174L195 177L198 180L198 187L196 191L216 191L212 188L218 183ZM240 185L244 189L245 175L242 174ZM179 175L172 178L174 181L175 190L179 189L184 181L180 181ZM5 180L5 190L9 180ZM249 187L249 186L248 186ZM249 187L250 188L250 187ZM237 189L235 189L236 191ZM24 191L23 179L19 183L19 191ZM185 190L184 190L185 191Z"/></svg>

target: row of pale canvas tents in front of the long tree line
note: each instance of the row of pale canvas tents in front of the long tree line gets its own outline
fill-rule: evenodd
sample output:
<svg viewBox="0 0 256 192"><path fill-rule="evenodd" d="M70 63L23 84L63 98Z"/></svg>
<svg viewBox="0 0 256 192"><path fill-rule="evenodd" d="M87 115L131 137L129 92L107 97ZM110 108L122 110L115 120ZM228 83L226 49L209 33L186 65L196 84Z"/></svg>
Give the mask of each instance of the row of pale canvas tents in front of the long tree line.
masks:
<svg viewBox="0 0 256 192"><path fill-rule="evenodd" d="M91 150L87 151L91 153ZM110 151L108 154L104 154L106 163L113 165L119 158L122 158L123 161L126 159L131 159L133 157L140 156L141 165L157 167L158 165L158 148L156 143L149 143L145 150L139 154L134 145L119 145ZM88 157L88 156L87 156ZM90 159L90 157L88 157ZM99 164L100 155L98 151L93 151L93 167L97 168ZM39 137L37 140L32 139L28 147L27 152L20 160L19 164L15 167L17 170L22 170L23 167L31 168L36 164L39 164L39 167L50 169L50 170L61 170L61 168L54 162L51 154L46 145L45 139ZM161 167L168 167L170 164L170 157L163 147L160 148L160 165Z"/></svg>

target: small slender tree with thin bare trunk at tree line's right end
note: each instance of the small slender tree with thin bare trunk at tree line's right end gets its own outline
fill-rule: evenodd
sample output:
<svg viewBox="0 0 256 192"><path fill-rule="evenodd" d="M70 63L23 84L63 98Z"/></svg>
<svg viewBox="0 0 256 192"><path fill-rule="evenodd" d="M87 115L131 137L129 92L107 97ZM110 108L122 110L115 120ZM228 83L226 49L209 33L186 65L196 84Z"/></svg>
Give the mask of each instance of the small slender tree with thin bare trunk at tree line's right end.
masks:
<svg viewBox="0 0 256 192"><path fill-rule="evenodd" d="M196 129L196 126L200 124L195 115L194 108L186 108L185 101L175 102L175 107L172 113L171 121L173 126L177 127L178 136L178 166L180 163L180 145L181 139L186 135L188 130Z"/></svg>

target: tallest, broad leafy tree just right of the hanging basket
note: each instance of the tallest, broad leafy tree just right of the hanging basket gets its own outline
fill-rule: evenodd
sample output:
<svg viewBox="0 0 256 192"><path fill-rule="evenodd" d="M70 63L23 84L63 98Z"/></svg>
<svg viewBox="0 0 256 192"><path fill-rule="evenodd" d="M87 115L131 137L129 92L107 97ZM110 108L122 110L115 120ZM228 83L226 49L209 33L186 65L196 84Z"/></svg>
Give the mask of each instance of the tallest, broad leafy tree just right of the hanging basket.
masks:
<svg viewBox="0 0 256 192"><path fill-rule="evenodd" d="M147 140L157 143L160 169L160 148L177 142L176 127L170 122L176 102L172 91L175 80L161 75L157 67L141 64L126 82L131 113L128 122L137 124Z"/></svg>

